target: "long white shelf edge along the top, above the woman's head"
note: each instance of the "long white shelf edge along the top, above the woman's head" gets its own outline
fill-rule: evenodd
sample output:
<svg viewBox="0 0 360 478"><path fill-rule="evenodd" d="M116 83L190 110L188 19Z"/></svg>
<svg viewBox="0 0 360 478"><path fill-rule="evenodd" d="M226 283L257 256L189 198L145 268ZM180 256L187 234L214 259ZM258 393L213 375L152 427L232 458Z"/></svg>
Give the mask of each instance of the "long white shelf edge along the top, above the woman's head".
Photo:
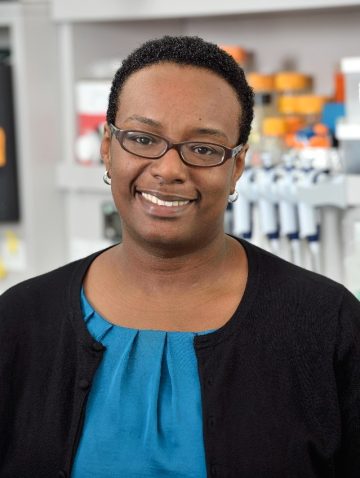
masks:
<svg viewBox="0 0 360 478"><path fill-rule="evenodd" d="M360 6L360 0L225 0L223 2L198 2L190 0L151 2L124 0L53 0L52 16L56 21L118 21L151 20L160 18L186 18L219 15L239 15L325 8Z"/></svg>

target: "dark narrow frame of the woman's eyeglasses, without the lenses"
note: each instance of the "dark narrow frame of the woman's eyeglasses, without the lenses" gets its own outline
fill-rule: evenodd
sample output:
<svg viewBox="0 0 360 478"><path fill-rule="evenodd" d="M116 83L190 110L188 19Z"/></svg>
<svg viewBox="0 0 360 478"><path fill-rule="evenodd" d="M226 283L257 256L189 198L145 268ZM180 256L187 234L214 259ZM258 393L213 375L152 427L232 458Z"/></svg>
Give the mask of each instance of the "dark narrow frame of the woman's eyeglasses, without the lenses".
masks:
<svg viewBox="0 0 360 478"><path fill-rule="evenodd" d="M115 138L118 140L120 146L125 150L127 151L128 153L130 154L133 154L134 156L138 156L139 158L144 158L144 159L160 159L162 158L168 151L170 151L170 149L175 149L181 159L181 161L186 164L187 166L193 166L193 167L199 167L199 168L213 168L213 167L216 167L216 166L221 166L222 164L224 164L228 159L231 159L231 158L234 158L237 154L239 154L244 145L243 144L239 144L237 146L235 146L234 148L228 148L227 146L224 146L223 144L217 144L217 143L209 143L209 142L204 142L204 141L182 141L180 143L173 143L172 141L169 141L167 138L164 138L163 136L160 136L159 134L155 134L155 133L149 133L147 131L140 131L140 130L136 130L136 129L120 129L118 128L117 126L115 126L114 124L112 123L109 123L109 127L110 127L110 131L111 131L111 134L115 136ZM156 138L159 138L163 141L165 141L166 145L167 145L167 148L166 150L161 153L160 155L158 156L154 156L154 157L148 157L148 156L143 156L141 154L136 154L136 153L133 153L132 151L129 151L128 149L126 149L124 147L124 145L122 144L122 140L123 140L123 137L125 135L125 133L127 132L134 132L134 133L145 133L145 134L150 134L151 136L155 136ZM181 146L183 146L184 144L192 144L192 143L200 143L200 144L208 144L209 146L217 146L217 147L220 147L220 148L223 148L224 149L224 157L222 158L221 162L220 163L216 163L216 164L205 164L205 165L200 165L200 164L192 164L192 163L189 163L182 155L182 152L181 152Z"/></svg>

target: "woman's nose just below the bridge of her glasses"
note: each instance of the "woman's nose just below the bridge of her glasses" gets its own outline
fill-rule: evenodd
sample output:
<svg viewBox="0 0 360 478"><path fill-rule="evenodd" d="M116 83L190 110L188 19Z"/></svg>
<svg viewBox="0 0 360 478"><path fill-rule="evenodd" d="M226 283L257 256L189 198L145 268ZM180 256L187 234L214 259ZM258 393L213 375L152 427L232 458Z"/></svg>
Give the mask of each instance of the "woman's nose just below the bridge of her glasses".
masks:
<svg viewBox="0 0 360 478"><path fill-rule="evenodd" d="M151 174L165 183L183 183L188 175L188 166L175 149L170 149L164 156L152 161Z"/></svg>

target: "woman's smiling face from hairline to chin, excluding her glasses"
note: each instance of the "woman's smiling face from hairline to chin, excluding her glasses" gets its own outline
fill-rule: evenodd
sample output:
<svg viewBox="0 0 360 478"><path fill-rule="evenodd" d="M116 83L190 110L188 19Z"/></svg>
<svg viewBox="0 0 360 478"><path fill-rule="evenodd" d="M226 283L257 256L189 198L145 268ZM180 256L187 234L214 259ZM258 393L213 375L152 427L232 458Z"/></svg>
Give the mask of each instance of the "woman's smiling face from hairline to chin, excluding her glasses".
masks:
<svg viewBox="0 0 360 478"><path fill-rule="evenodd" d="M240 114L236 93L224 79L206 69L165 63L129 77L115 126L155 133L172 142L232 148L237 145ZM228 195L242 173L244 156L245 150L209 168L184 164L174 149L160 159L139 158L123 150L106 127L102 157L124 237L187 249L223 234ZM175 205L156 204L158 199Z"/></svg>

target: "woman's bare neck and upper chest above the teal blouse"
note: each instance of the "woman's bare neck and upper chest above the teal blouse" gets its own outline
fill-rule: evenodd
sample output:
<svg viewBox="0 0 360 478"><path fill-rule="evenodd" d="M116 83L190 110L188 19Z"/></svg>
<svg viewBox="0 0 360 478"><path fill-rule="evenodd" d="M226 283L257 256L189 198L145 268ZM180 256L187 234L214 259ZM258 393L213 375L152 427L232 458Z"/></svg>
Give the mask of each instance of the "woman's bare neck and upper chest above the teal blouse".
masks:
<svg viewBox="0 0 360 478"><path fill-rule="evenodd" d="M176 257L154 254L125 238L92 263L85 292L112 323L197 331L221 327L229 320L246 280L246 253L224 234Z"/></svg>

